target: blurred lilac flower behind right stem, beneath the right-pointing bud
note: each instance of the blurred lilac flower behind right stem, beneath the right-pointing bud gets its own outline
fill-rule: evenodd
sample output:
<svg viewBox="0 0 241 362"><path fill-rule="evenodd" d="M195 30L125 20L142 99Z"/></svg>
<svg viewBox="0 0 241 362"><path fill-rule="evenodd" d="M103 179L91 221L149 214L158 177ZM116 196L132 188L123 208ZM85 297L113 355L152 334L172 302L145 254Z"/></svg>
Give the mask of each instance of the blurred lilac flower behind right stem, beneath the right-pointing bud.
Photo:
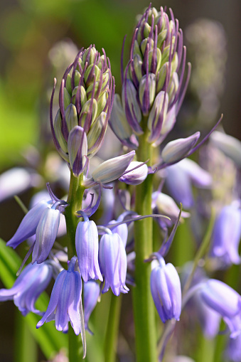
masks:
<svg viewBox="0 0 241 362"><path fill-rule="evenodd" d="M171 196L182 203L184 208L194 205L192 185L209 188L212 177L191 159L183 159L178 164L166 167L166 187Z"/></svg>

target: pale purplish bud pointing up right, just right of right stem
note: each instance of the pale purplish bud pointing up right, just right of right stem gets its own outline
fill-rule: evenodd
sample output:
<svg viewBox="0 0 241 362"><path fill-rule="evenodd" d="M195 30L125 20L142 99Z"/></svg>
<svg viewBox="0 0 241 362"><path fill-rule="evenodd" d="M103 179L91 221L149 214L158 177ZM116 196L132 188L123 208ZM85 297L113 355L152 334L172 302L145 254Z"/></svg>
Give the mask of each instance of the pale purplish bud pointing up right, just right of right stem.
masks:
<svg viewBox="0 0 241 362"><path fill-rule="evenodd" d="M168 164L176 162L188 155L188 152L196 145L200 137L200 132L196 132L187 138L175 139L168 142L161 152L161 158Z"/></svg>

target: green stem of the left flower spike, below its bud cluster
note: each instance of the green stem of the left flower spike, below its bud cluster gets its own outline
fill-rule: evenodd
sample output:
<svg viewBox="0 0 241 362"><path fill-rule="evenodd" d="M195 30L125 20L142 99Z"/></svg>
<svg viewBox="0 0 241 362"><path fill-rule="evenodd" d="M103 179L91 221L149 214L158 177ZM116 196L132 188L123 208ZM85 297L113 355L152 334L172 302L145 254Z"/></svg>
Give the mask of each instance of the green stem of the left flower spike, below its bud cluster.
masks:
<svg viewBox="0 0 241 362"><path fill-rule="evenodd" d="M82 207L82 198L85 191L85 187L82 186L82 174L78 177L73 175L73 171L70 174L70 188L68 193L68 204L65 208L65 220L68 235L68 259L70 260L76 255L75 252L75 232L79 218L76 216L76 211L79 211ZM69 337L69 362L77 362L82 359L82 344L81 336L76 336L72 328L68 331Z"/></svg>

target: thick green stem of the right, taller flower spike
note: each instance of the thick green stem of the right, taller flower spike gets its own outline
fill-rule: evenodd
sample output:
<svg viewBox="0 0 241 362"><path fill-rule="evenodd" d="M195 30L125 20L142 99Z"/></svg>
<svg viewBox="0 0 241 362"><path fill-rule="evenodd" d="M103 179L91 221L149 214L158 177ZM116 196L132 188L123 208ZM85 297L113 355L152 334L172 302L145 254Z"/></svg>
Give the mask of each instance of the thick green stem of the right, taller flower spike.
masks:
<svg viewBox="0 0 241 362"><path fill-rule="evenodd" d="M146 134L139 137L139 148L136 152L138 161L149 159L151 165L153 148L146 142ZM136 208L139 215L151 214L151 193L153 175L136 186ZM133 289L134 324L136 336L136 362L155 362L156 327L154 302L151 297L150 276L151 264L144 262L153 252L152 219L146 218L135 222L135 284Z"/></svg>

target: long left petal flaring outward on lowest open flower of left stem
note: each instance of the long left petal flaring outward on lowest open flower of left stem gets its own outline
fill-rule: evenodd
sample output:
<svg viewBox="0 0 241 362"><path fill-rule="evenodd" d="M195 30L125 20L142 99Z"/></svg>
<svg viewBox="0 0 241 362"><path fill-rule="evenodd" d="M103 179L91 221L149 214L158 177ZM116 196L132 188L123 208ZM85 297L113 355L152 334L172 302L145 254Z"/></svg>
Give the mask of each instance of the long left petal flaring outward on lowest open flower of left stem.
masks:
<svg viewBox="0 0 241 362"><path fill-rule="evenodd" d="M53 285L53 290L50 295L50 302L48 304L48 308L45 314L43 315L43 318L40 321L38 321L36 328L43 326L44 322L55 311L55 308L57 307L58 304L58 300L63 292L63 283L65 282L66 273L67 273L66 270L62 270L62 272L60 272L57 279L55 280L55 284Z"/></svg>

